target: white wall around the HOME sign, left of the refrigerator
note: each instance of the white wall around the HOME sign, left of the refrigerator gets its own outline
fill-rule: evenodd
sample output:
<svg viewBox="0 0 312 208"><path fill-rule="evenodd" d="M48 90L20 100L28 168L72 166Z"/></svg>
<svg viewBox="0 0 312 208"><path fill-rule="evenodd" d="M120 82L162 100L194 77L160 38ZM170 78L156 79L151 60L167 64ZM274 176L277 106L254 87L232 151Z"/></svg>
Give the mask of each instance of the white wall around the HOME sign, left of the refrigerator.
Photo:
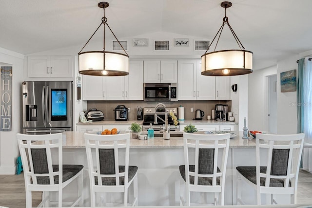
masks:
<svg viewBox="0 0 312 208"><path fill-rule="evenodd" d="M0 132L0 174L15 174L19 148L16 133L21 132L21 82L23 80L24 56L0 48L0 62L12 66L12 129Z"/></svg>

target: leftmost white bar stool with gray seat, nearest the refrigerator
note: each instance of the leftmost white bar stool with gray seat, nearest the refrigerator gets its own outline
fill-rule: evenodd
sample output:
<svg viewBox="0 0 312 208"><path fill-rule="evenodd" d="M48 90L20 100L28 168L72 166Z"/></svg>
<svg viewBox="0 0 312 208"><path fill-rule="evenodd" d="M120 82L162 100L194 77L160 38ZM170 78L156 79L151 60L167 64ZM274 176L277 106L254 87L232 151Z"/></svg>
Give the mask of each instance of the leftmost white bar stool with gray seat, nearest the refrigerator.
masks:
<svg viewBox="0 0 312 208"><path fill-rule="evenodd" d="M28 135L17 134L24 171L26 208L32 207L32 191L43 191L38 207L51 204L79 205L83 207L82 165L63 165L62 133ZM58 165L52 164L51 150L58 151ZM63 202L63 188L78 179L78 197L72 202ZM49 191L58 191L58 202L51 201ZM79 203L79 204L78 204Z"/></svg>

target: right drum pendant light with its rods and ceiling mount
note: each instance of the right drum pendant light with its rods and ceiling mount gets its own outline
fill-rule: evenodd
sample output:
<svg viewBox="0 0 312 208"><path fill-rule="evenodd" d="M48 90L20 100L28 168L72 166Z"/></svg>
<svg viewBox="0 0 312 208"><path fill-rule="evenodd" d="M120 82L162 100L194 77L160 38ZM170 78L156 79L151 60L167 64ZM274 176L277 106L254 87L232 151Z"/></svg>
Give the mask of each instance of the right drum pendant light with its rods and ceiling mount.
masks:
<svg viewBox="0 0 312 208"><path fill-rule="evenodd" d="M234 75L246 75L253 72L253 52L246 51L240 40L237 38L234 30L229 24L229 19L226 16L226 9L231 7L232 3L224 1L221 3L221 7L225 8L225 17L223 23L215 35L218 36L215 48L218 44L224 25L228 25L240 50L223 50L213 51L207 53L210 46L214 42L215 38L209 44L205 54L201 56L201 75L205 76L234 76Z"/></svg>

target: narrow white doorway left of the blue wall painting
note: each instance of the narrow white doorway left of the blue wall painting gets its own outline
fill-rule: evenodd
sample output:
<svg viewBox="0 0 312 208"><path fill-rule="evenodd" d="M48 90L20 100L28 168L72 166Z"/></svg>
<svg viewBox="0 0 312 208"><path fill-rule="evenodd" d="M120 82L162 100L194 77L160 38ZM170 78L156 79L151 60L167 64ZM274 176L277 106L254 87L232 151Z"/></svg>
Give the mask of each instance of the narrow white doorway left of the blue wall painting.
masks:
<svg viewBox="0 0 312 208"><path fill-rule="evenodd" d="M266 76L266 128L277 133L277 75Z"/></svg>

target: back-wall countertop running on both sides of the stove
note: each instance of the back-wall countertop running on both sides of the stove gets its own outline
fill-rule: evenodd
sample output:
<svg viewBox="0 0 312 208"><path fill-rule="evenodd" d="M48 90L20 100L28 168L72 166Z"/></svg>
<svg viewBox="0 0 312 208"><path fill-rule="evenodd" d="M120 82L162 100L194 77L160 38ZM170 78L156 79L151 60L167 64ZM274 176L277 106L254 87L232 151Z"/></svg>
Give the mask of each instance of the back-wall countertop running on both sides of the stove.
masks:
<svg viewBox="0 0 312 208"><path fill-rule="evenodd" d="M115 121L115 120L103 120L103 121L94 121L92 123L82 123L78 122L77 125L121 125L121 124L132 124L132 123L138 123L142 124L143 121L138 120L128 120L128 121ZM194 124L194 125L214 125L214 124L228 124L228 125L235 125L238 124L237 122L231 122L231 121L215 121L215 120L179 120L180 125L188 125L188 124Z"/></svg>

